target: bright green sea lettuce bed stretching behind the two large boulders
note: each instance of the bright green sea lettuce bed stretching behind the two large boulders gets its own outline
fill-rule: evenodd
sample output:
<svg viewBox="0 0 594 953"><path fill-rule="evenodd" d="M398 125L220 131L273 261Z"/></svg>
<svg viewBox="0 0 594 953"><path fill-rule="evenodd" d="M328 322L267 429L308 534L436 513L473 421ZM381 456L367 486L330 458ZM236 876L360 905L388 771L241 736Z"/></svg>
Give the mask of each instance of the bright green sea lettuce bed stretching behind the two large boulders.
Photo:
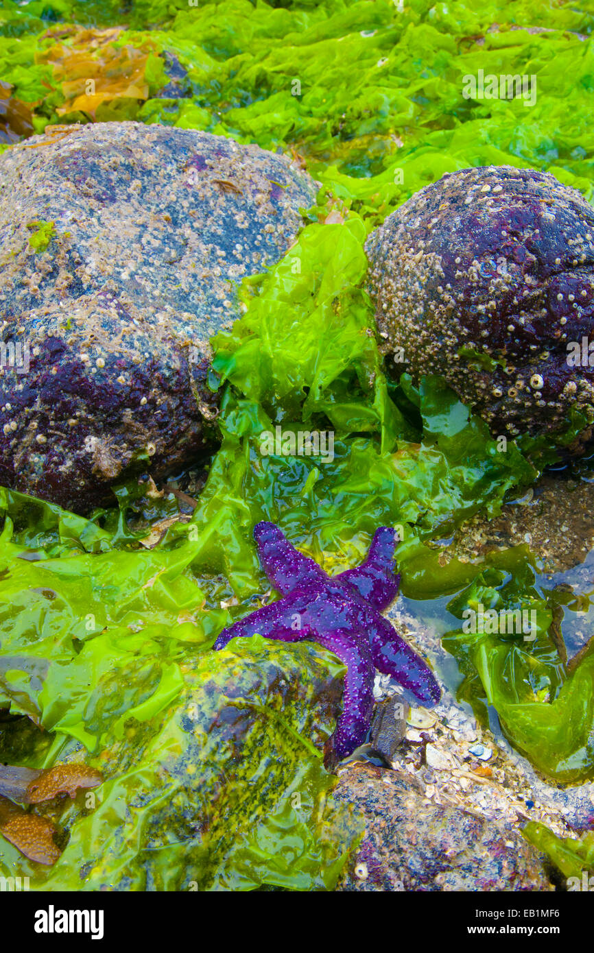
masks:
<svg viewBox="0 0 594 953"><path fill-rule="evenodd" d="M187 71L185 98L159 98L152 81L152 98L127 100L119 118L295 150L368 231L444 172L469 166L537 168L593 195L589 10L535 0L455 10L432 0L135 0L125 10L117 0L6 0L0 73L34 105L37 132L63 121L61 83L36 56L55 42L48 28L64 22L124 24L116 45L137 50L150 38ZM536 101L465 98L464 77L479 70L534 76Z"/></svg>

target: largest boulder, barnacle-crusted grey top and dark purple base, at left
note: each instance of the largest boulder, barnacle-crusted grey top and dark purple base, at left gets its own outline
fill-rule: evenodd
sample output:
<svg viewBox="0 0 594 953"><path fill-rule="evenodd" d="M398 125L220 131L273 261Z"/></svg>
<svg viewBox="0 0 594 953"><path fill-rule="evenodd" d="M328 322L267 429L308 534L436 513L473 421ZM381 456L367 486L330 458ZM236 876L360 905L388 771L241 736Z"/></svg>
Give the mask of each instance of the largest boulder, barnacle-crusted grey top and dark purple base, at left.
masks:
<svg viewBox="0 0 594 953"><path fill-rule="evenodd" d="M0 156L0 484L84 513L214 436L209 338L317 190L206 132L51 130Z"/></svg>

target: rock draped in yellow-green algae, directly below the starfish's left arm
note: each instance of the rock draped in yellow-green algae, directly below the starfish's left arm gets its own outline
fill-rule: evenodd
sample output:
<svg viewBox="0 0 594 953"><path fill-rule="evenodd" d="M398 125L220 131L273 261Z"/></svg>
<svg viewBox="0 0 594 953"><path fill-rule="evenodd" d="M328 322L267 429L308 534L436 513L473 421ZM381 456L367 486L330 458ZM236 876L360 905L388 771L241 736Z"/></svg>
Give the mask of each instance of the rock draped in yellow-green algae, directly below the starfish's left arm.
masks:
<svg viewBox="0 0 594 953"><path fill-rule="evenodd" d="M328 776L303 741L321 749L333 730L339 664L312 643L261 640L248 655L189 647L180 672L181 694L154 718L129 720L122 737L104 738L94 756L77 740L62 752L70 770L93 760L104 781L92 811L80 798L60 801L59 816L51 802L35 805L70 834L59 860L34 870L38 889L65 882L75 890L253 888L258 862L278 849L271 818L286 832L288 869L294 857L303 888L320 889L321 880L308 880L316 864L323 870L325 853L339 857L358 836L355 812L327 804ZM300 840L308 811L323 815L309 866L310 844ZM28 862L19 863L29 874ZM284 866L279 858L279 876Z"/></svg>

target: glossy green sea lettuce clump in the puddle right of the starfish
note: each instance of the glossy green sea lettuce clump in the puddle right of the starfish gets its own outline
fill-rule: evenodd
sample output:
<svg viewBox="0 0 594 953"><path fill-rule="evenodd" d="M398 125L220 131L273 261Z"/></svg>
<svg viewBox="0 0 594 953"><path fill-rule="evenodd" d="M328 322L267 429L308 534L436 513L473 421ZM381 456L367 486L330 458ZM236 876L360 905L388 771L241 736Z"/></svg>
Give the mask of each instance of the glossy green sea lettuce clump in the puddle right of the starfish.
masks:
<svg viewBox="0 0 594 953"><path fill-rule="evenodd" d="M460 581L468 576L462 566ZM454 567L452 567L454 569ZM544 775L555 781L594 777L594 653L586 651L568 668L563 644L551 626L562 617L584 612L589 601L568 597L551 586L527 545L489 554L473 567L474 578L448 603L458 618L465 610L522 612L531 631L512 634L451 630L442 645L458 659L464 679L458 689L487 720L497 713L504 735ZM469 627L468 627L469 628ZM563 636L562 636L563 640Z"/></svg>

